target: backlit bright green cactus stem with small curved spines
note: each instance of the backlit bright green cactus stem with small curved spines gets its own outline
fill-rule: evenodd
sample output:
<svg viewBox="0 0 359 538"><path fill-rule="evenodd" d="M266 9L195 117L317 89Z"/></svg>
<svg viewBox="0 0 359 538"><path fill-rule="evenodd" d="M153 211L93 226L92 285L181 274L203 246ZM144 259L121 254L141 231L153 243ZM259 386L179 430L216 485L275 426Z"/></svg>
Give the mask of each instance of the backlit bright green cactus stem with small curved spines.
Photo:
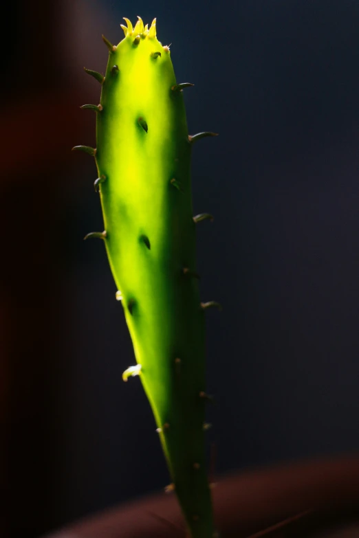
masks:
<svg viewBox="0 0 359 538"><path fill-rule="evenodd" d="M102 85L96 112L95 158L104 240L129 326L139 375L155 416L174 489L193 538L212 538L213 510L206 475L204 436L204 316L215 302L199 299L195 228L212 215L193 216L191 150L183 89L177 84L169 46L156 37L156 20L138 17L124 39L109 49L105 77L85 69Z"/></svg>

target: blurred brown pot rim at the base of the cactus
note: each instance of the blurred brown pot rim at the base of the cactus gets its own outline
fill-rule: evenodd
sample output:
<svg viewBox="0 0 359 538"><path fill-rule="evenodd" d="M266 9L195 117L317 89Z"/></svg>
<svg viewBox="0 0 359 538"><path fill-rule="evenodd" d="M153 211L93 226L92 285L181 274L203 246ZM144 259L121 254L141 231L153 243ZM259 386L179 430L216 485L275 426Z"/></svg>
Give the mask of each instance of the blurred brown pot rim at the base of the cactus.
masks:
<svg viewBox="0 0 359 538"><path fill-rule="evenodd" d="M223 538L314 536L342 522L359 521L359 458L312 460L228 475L213 488L213 497ZM185 535L175 495L162 493L89 517L47 538Z"/></svg>

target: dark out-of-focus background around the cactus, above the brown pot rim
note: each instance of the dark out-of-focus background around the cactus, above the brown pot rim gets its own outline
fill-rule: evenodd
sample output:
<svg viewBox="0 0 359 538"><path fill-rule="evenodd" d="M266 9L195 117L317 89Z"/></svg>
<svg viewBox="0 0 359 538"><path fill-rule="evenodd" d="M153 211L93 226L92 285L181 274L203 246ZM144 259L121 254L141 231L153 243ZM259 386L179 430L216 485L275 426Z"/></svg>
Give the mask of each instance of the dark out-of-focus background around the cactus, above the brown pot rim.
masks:
<svg viewBox="0 0 359 538"><path fill-rule="evenodd" d="M218 473L359 449L359 3L14 0L1 69L0 534L36 538L168 473L101 242L104 33L157 16L196 144ZM99 244L101 243L101 244Z"/></svg>

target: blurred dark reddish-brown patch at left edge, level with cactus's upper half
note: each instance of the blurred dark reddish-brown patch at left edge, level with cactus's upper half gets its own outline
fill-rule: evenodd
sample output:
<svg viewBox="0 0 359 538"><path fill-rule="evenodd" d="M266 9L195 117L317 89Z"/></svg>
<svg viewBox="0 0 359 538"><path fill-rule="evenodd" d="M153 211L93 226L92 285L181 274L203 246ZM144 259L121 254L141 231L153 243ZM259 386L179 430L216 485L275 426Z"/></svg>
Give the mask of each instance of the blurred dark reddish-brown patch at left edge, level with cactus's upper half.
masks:
<svg viewBox="0 0 359 538"><path fill-rule="evenodd" d="M82 98L83 99L83 98ZM71 148L88 131L94 136L94 119L81 113L76 103L81 97L54 89L21 102L10 102L2 115L3 138L1 166L3 180L32 172L43 172L73 157Z"/></svg>

